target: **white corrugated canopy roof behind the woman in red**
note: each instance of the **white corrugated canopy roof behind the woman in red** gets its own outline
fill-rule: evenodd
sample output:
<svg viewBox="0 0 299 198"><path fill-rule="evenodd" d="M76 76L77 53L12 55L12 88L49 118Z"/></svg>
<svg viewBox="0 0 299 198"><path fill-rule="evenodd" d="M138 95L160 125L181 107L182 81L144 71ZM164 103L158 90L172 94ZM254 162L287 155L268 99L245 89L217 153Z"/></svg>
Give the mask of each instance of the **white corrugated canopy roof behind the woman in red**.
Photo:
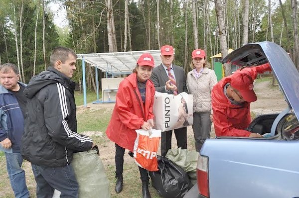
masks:
<svg viewBox="0 0 299 198"><path fill-rule="evenodd" d="M160 50L77 54L77 59L84 59L92 67L97 67L108 74L130 74L144 53L152 55L155 67L161 63Z"/></svg>

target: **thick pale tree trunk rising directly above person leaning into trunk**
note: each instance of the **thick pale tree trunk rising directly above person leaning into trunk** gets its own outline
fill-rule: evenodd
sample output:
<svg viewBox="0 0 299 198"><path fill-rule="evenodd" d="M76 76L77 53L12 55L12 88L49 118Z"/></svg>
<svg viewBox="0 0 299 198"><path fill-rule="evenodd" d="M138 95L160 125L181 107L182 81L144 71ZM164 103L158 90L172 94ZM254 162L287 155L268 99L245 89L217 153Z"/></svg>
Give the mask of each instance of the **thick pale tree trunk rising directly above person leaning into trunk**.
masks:
<svg viewBox="0 0 299 198"><path fill-rule="evenodd" d="M223 15L223 11L222 11L221 1L220 0L215 0L214 2L215 2L216 16L217 16L217 19L218 19L221 54L222 54L222 58L224 58L228 55L224 15ZM225 63L225 64L223 64L223 67L225 69L225 71L224 71L225 76L229 76L229 75L232 74L230 64Z"/></svg>

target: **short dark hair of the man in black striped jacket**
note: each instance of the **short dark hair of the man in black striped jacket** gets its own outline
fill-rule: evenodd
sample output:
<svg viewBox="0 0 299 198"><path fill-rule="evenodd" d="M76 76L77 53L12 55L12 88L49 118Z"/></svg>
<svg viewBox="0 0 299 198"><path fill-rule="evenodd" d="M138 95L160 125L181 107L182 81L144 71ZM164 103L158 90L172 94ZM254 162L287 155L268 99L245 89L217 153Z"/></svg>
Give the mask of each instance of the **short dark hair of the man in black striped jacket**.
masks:
<svg viewBox="0 0 299 198"><path fill-rule="evenodd" d="M68 59L69 54L73 55L76 58L78 57L77 54L70 48L62 46L54 48L50 56L51 66L54 67L57 61L61 61L62 63L64 63Z"/></svg>

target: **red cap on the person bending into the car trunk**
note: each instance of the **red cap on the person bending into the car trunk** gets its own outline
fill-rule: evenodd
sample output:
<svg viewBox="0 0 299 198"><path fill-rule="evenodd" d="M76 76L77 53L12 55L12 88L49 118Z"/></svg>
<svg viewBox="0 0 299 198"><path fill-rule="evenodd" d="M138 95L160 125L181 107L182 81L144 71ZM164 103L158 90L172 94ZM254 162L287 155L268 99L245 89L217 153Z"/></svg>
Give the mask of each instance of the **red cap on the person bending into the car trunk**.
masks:
<svg viewBox="0 0 299 198"><path fill-rule="evenodd" d="M257 100L257 96L253 91L253 79L248 72L242 71L234 73L231 77L230 85L239 91L245 101L254 102Z"/></svg>

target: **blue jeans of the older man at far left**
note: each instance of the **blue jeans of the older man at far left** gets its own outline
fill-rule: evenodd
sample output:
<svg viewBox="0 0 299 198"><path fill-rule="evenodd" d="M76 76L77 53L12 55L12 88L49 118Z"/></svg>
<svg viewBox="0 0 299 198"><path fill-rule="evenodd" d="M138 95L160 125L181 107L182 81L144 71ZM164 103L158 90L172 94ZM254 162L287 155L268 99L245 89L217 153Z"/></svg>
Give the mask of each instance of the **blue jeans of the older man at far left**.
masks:
<svg viewBox="0 0 299 198"><path fill-rule="evenodd" d="M25 171L21 168L23 158L20 153L5 153L6 168L15 198L29 198Z"/></svg>

